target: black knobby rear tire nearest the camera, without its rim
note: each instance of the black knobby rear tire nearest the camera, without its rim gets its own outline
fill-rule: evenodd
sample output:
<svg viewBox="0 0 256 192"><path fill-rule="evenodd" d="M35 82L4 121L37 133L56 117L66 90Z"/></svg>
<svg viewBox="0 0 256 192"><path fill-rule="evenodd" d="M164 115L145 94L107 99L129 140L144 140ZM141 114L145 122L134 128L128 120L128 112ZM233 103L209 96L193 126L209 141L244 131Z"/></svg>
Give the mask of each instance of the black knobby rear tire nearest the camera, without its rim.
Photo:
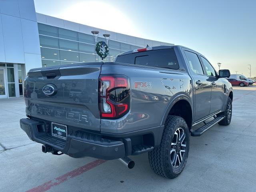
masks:
<svg viewBox="0 0 256 192"><path fill-rule="evenodd" d="M186 151L180 166L174 168L171 163L172 138L178 128L182 128L185 133ZM187 159L190 144L190 134L186 121L179 116L169 115L165 122L164 132L160 146L148 152L148 159L152 170L164 178L173 179L179 176L184 169Z"/></svg>

